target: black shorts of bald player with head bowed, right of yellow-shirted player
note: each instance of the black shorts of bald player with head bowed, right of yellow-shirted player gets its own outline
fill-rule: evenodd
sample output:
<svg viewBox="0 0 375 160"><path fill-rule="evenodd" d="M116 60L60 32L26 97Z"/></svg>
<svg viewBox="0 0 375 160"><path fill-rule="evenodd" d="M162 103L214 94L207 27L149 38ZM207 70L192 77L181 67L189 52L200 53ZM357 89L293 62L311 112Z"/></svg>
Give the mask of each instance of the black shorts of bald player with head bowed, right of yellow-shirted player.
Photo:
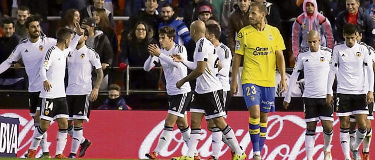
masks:
<svg viewBox="0 0 375 160"><path fill-rule="evenodd" d="M333 121L333 107L327 105L326 98L303 98L305 122L318 120Z"/></svg>

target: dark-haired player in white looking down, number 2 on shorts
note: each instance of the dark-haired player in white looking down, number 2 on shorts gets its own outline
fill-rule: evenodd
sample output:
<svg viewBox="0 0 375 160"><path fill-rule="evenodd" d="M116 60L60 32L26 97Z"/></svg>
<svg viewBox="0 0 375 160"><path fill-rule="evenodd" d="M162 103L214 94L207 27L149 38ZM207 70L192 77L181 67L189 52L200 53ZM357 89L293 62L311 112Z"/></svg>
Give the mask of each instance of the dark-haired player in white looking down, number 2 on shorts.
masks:
<svg viewBox="0 0 375 160"><path fill-rule="evenodd" d="M332 85L337 75L337 112L340 117L340 141L345 159L350 159L350 150L354 160L361 159L359 146L367 133L366 120L369 114L367 104L374 101L374 71L369 49L366 44L356 40L356 26L345 24L345 41L333 48L331 71L328 78L327 103L333 105ZM366 84L366 76L368 85ZM367 87L366 87L367 86ZM356 142L350 148L349 123L354 114L357 123Z"/></svg>

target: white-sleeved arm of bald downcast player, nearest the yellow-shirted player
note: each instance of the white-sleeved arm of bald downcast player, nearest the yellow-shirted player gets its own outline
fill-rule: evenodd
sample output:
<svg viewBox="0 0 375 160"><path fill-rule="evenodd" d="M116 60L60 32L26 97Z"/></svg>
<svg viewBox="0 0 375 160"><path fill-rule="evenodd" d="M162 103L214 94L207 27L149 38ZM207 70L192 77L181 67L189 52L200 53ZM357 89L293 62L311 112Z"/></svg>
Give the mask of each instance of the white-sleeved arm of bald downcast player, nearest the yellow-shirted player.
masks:
<svg viewBox="0 0 375 160"><path fill-rule="evenodd" d="M302 56L299 55L298 58L296 59L296 64L294 66L293 73L289 79L287 93L285 94L285 97L284 97L283 106L285 109L287 109L289 106L291 95L292 95L292 90L294 86L296 86L298 76L300 75L300 72L302 71L302 69L303 69Z"/></svg>

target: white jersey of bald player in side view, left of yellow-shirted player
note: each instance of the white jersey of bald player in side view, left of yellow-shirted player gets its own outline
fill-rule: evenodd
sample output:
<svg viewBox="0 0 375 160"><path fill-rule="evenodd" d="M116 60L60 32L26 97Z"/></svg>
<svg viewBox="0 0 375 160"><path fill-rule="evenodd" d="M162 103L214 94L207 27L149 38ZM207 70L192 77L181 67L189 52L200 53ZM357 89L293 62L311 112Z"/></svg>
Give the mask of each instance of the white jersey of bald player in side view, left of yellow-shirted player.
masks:
<svg viewBox="0 0 375 160"><path fill-rule="evenodd" d="M195 65L198 64L198 61L207 62L203 74L196 78L195 92L203 94L223 89L217 74L219 58L215 53L215 47L205 37L199 39L195 46L193 56Z"/></svg>

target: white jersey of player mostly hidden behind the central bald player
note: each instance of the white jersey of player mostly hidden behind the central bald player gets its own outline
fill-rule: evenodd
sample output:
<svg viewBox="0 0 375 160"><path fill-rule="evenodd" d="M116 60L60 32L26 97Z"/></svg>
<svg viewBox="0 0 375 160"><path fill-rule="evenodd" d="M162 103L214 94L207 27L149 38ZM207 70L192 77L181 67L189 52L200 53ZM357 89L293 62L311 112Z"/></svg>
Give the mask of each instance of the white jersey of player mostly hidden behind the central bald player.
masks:
<svg viewBox="0 0 375 160"><path fill-rule="evenodd" d="M219 71L219 80L223 86L223 91L229 91L231 90L231 85L229 84L229 71L231 69L232 52L229 47L225 46L223 43L220 43L215 50L222 65L222 68Z"/></svg>

